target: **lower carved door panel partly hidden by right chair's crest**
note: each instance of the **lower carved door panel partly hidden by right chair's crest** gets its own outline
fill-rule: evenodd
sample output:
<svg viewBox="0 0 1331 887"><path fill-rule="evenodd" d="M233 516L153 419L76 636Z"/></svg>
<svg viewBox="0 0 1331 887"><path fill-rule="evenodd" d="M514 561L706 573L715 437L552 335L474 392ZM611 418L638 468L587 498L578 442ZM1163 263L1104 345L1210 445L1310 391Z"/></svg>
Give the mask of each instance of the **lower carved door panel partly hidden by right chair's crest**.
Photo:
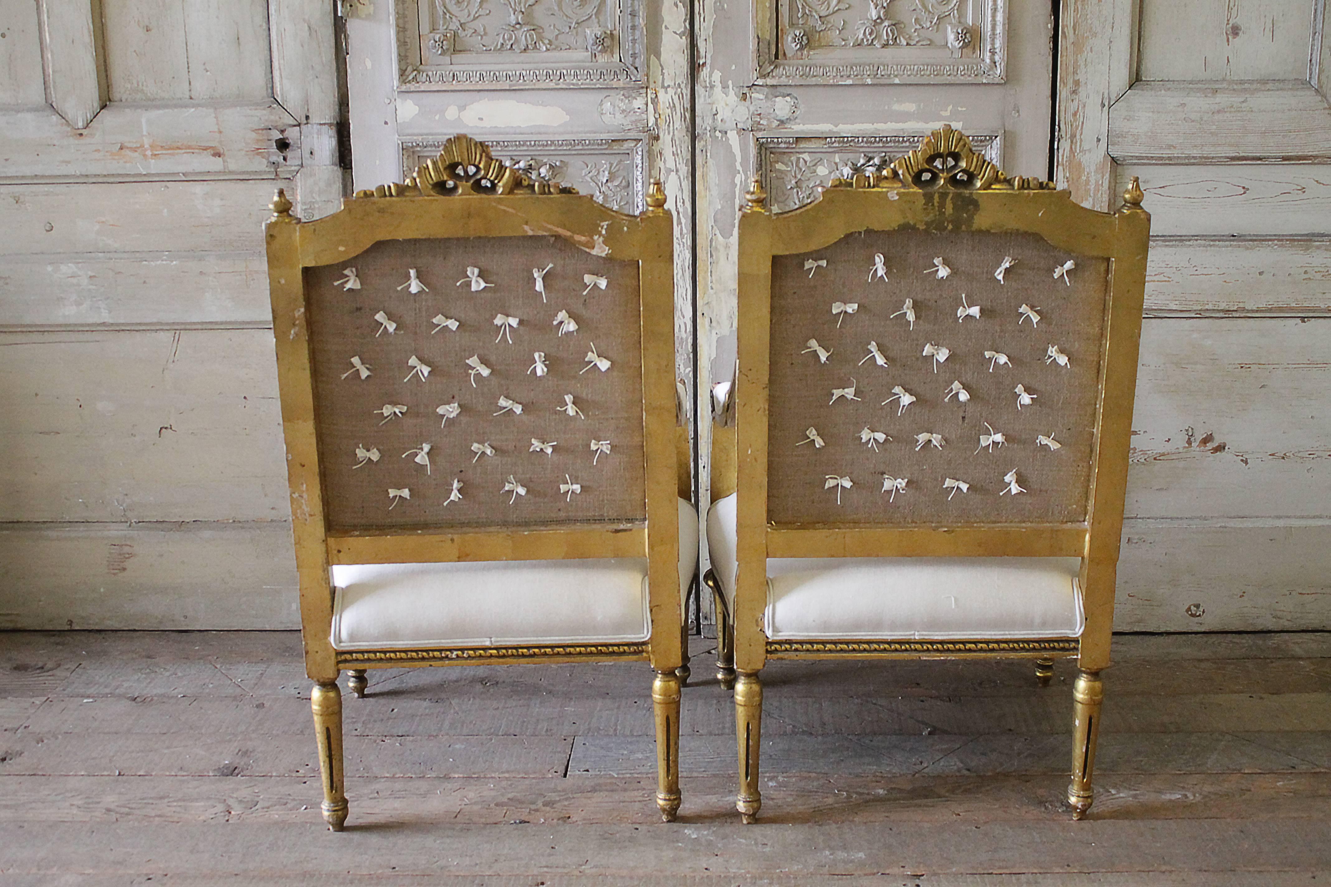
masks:
<svg viewBox="0 0 1331 887"><path fill-rule="evenodd" d="M1001 166L1000 136L970 136L970 144ZM768 205L784 213L817 199L833 178L881 172L897 157L920 146L920 136L829 136L759 138L759 156L768 191Z"/></svg>

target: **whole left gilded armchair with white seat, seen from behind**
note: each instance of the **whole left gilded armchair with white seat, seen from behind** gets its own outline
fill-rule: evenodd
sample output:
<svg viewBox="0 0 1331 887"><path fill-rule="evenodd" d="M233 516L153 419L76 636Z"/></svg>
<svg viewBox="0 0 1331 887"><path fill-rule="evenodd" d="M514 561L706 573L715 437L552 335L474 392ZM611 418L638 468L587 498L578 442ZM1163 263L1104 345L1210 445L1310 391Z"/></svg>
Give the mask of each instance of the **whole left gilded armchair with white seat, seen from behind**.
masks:
<svg viewBox="0 0 1331 887"><path fill-rule="evenodd" d="M342 697L374 668L648 660L679 794L681 597L671 217L532 180L466 136L405 185L268 223L323 818ZM687 469L685 475L687 477Z"/></svg>

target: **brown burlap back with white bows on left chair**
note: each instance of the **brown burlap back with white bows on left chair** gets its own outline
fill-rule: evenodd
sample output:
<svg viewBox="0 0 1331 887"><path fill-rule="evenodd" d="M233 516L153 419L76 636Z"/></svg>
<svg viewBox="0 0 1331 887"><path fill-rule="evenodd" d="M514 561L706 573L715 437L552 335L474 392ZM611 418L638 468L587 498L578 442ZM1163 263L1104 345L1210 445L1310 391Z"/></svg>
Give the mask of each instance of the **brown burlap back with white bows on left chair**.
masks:
<svg viewBox="0 0 1331 887"><path fill-rule="evenodd" d="M490 286L473 290L469 266ZM532 269L546 266L552 267L542 299ZM359 289L345 289L347 269ZM403 286L409 269L429 291ZM604 289L588 285L588 274L604 278ZM636 262L596 257L555 237L385 241L346 262L307 269L305 283L330 528L644 519ZM375 319L381 311L394 331ZM576 332L559 335L559 311ZM441 327L441 315L457 320L457 330ZM518 318L518 326L496 326L498 315ZM608 370L587 368L592 346L611 362ZM538 351L546 375L532 368ZM471 375L466 362L474 355L488 376ZM413 356L430 367L425 379ZM370 368L367 378L351 358ZM564 395L584 418L560 410ZM502 412L500 398L522 404L522 412ZM455 418L437 411L454 403ZM386 416L386 406L406 412ZM532 439L554 443L551 453L532 451ZM592 440L608 440L610 452L594 451ZM418 461L426 443L421 459L429 468ZM473 444L487 444L494 455L478 455ZM379 459L366 460L358 448L377 449ZM504 492L510 477L526 495ZM454 480L461 501L449 501ZM560 489L571 484L580 492ZM390 496L402 489L410 499Z"/></svg>

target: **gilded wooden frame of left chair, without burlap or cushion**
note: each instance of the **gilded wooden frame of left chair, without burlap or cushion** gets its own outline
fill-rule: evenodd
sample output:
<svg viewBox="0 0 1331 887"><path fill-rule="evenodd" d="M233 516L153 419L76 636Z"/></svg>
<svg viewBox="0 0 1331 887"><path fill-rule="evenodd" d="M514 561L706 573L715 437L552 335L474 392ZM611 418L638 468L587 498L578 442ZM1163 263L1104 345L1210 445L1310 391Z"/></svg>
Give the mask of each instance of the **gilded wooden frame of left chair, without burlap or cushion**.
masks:
<svg viewBox="0 0 1331 887"><path fill-rule="evenodd" d="M462 203L442 195L490 197ZM534 181L495 160L490 149L466 136L451 138L439 157L417 168L403 185L361 191L341 211L301 222L291 201L278 190L265 230L268 271L277 348L282 426L287 455L291 525L299 576L305 668L314 682L310 703L323 782L323 819L339 831L347 818L342 775L341 672L349 689L366 693L366 669L402 666L498 665L531 662L600 662L646 660L654 672L652 699L658 725L659 777L656 803L664 819L679 811L679 686L684 666L679 594L672 219L659 182L648 194L650 210L624 215L576 195L571 189ZM375 197L395 197L385 201ZM369 198L369 199L361 199ZM458 211L450 210L454 206ZM315 408L314 359L309 310L335 298L306 286L306 269L342 267L381 241L419 243L423 250L445 238L563 238L598 257L623 261L636 275L640 305L643 489L646 520L624 525L556 521L550 527L389 527L373 531L327 525L326 485L321 472L319 423ZM536 242L536 241L532 241ZM628 363L628 362L626 362ZM423 379L423 376L422 376ZM333 457L331 453L327 455ZM446 515L447 519L447 515ZM441 646L430 649L337 650L331 641L330 564L562 560L642 557L647 560L648 608L654 630L642 644L548 644L520 646ZM373 694L371 694L373 697Z"/></svg>

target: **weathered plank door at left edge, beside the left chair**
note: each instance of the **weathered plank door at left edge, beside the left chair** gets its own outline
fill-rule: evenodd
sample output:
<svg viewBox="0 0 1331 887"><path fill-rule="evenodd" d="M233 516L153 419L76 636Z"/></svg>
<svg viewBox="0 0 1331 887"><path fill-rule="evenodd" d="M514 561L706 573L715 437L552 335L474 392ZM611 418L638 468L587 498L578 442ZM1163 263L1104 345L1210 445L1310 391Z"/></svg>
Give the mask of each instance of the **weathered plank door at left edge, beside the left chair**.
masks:
<svg viewBox="0 0 1331 887"><path fill-rule="evenodd" d="M335 209L325 0L0 0L0 628L290 628L262 223Z"/></svg>

